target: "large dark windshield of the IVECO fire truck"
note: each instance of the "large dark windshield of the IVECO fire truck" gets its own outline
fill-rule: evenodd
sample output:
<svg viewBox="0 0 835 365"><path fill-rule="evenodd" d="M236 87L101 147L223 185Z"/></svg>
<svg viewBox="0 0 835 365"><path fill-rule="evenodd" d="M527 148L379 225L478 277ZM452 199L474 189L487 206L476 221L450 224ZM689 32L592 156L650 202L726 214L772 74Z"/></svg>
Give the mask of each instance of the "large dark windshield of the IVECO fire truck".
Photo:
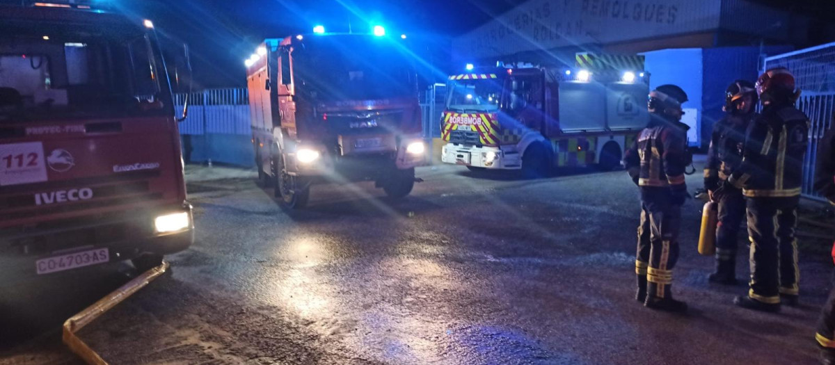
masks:
<svg viewBox="0 0 835 365"><path fill-rule="evenodd" d="M48 29L0 26L0 122L174 114L144 32Z"/></svg>

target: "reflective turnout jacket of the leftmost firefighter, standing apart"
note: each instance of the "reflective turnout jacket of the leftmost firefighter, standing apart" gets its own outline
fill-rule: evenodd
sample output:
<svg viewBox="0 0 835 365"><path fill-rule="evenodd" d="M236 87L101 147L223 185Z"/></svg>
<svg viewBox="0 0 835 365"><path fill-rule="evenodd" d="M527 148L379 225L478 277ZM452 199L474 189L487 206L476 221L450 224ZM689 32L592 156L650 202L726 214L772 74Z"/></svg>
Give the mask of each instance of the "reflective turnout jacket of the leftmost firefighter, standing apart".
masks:
<svg viewBox="0 0 835 365"><path fill-rule="evenodd" d="M624 165L640 187L686 188L687 129L681 122L650 115L635 143L626 151Z"/></svg>

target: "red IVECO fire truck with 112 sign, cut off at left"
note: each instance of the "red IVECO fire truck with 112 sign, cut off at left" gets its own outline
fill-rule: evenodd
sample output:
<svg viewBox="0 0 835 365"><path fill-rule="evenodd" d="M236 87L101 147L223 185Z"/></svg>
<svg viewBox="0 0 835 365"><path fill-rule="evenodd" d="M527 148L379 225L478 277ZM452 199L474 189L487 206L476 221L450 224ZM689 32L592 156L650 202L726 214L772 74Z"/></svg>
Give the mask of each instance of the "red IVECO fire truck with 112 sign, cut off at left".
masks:
<svg viewBox="0 0 835 365"><path fill-rule="evenodd" d="M185 198L153 23L78 0L0 7L0 271L158 265L192 243Z"/></svg>

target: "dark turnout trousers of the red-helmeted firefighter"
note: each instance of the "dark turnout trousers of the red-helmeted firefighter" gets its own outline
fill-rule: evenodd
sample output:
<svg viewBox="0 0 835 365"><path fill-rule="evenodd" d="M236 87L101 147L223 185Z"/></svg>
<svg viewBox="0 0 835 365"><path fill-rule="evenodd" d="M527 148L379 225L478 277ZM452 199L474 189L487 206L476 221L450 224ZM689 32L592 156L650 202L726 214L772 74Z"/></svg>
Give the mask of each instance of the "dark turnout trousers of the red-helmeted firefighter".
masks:
<svg viewBox="0 0 835 365"><path fill-rule="evenodd" d="M800 197L748 198L751 283L748 296L780 303L780 294L797 295L797 204Z"/></svg>

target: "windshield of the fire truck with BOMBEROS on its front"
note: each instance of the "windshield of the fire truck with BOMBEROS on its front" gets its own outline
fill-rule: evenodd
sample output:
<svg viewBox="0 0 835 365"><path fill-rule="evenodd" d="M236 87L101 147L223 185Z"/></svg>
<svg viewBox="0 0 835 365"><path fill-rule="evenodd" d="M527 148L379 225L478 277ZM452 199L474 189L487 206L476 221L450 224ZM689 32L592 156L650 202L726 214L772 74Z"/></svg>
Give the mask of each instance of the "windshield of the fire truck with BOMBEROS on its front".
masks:
<svg viewBox="0 0 835 365"><path fill-rule="evenodd" d="M490 112L498 110L502 95L501 80L458 80L447 98L447 109L457 112Z"/></svg>

